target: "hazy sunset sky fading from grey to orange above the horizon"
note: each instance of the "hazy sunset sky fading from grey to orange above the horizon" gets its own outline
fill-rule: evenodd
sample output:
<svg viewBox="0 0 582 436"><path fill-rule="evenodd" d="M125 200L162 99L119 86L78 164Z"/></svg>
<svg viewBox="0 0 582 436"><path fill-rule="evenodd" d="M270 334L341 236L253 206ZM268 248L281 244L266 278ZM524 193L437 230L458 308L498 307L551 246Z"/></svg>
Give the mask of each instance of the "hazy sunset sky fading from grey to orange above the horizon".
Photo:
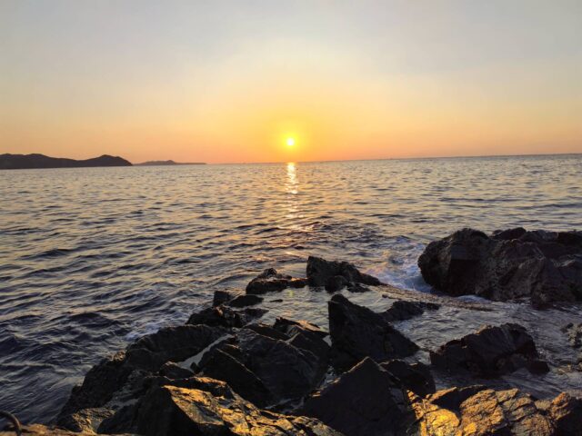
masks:
<svg viewBox="0 0 582 436"><path fill-rule="evenodd" d="M582 2L0 0L0 153L582 153Z"/></svg>

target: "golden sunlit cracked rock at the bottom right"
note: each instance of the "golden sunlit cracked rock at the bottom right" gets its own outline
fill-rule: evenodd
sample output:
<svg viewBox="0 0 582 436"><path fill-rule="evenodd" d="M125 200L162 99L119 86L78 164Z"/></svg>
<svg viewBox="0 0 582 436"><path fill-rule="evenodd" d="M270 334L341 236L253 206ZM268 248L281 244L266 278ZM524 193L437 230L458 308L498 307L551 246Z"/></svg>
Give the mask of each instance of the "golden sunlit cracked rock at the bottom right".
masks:
<svg viewBox="0 0 582 436"><path fill-rule="evenodd" d="M469 393L469 392L467 392ZM412 401L416 432L442 435L531 435L557 436L553 422L538 410L534 399L517 389L493 391L480 389L453 407L442 407L434 399Z"/></svg>

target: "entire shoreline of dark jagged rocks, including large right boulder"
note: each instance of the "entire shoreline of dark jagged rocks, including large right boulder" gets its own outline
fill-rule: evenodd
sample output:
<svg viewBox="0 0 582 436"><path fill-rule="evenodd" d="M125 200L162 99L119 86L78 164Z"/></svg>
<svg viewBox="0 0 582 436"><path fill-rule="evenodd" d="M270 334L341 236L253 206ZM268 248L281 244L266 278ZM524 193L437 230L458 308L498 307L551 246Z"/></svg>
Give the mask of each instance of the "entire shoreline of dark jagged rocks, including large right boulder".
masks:
<svg viewBox="0 0 582 436"><path fill-rule="evenodd" d="M512 229L487 236L464 229L429 244L419 266L440 292L526 298L547 309L582 299L581 258L578 232ZM261 322L266 295L302 288L331 294L327 325L284 317ZM374 312L352 301L362 292L394 302ZM582 392L536 398L482 382L519 371L544 382L547 356L518 323L484 325L430 349L395 326L447 308L493 310L396 290L346 262L309 257L305 278L267 269L246 292L216 291L185 325L163 328L97 363L55 426L25 426L24 434L582 434ZM563 335L579 350L582 323L565 325ZM421 362L420 352L429 362ZM456 384L437 382L442 374Z"/></svg>

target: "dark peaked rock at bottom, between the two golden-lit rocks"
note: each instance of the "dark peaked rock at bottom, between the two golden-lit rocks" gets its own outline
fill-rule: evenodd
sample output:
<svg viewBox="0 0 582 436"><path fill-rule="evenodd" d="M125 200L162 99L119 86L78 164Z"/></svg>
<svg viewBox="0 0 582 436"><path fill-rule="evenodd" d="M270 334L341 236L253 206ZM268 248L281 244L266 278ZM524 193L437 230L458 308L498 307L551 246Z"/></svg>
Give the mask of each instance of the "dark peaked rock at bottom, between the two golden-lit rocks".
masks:
<svg viewBox="0 0 582 436"><path fill-rule="evenodd" d="M391 435L406 423L406 398L370 358L307 398L301 410L346 436Z"/></svg>

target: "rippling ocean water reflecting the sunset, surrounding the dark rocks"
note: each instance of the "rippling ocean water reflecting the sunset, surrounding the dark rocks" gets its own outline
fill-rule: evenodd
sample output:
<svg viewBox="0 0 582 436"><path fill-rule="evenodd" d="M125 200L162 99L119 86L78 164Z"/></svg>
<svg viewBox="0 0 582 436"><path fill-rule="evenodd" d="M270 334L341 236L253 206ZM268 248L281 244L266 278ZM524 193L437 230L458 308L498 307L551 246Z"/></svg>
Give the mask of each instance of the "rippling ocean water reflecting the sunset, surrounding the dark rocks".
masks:
<svg viewBox="0 0 582 436"><path fill-rule="evenodd" d="M185 322L216 289L242 290L265 268L304 276L310 254L431 292L416 267L426 243L462 227L582 229L581 186L582 155L0 172L0 409L50 421L103 356ZM267 295L266 321L326 328L328 298L307 288ZM377 310L390 302L348 298ZM483 323L521 322L552 372L499 382L542 397L582 384L564 369L575 356L559 332L580 307L540 315L483 304L398 328L426 360Z"/></svg>

